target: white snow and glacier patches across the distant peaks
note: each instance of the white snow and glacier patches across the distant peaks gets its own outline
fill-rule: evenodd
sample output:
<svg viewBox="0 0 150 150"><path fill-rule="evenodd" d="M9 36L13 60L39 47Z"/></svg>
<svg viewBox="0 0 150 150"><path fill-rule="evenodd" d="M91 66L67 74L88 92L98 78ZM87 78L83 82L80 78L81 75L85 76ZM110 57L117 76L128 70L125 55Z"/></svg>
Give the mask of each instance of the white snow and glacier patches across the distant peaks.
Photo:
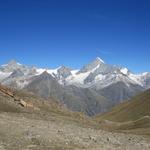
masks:
<svg viewBox="0 0 150 150"><path fill-rule="evenodd" d="M81 86L81 87L90 87L93 85L97 85L100 87L105 87L109 84L118 82L118 81L123 81L124 83L126 83L127 85L130 85L130 83L132 84L138 84L141 86L144 86L144 79L150 77L150 73L148 72L144 72L141 74L132 74L131 72L129 72L129 70L127 68L119 68L118 70L114 71L114 72L108 72L108 74L97 74L96 76L94 76L95 78L92 78L91 82L84 82L85 79L90 75L92 76L92 73L94 73L99 67L103 66L102 63L104 63L104 61L97 57L96 58L96 65L94 65L94 67L91 67L88 71L86 72L80 72L80 70L71 70L71 75L69 75L66 78L63 78L63 80L60 80L59 78L57 78L58 75L58 69L60 69L62 66L56 68L56 69L46 69L46 68L35 68L36 69L36 73L33 73L33 76L35 75L40 75L42 74L44 71L47 71L47 73L49 73L50 75L52 75L54 78L56 78L56 80L58 80L58 82L60 84L68 84L68 85L77 85L77 86ZM22 65L17 63L17 65ZM7 67L8 64L4 64L2 65L2 67ZM20 67L20 66L19 66ZM12 72L3 72L0 71L0 80L7 78ZM94 74L95 75L95 74ZM29 76L24 76L25 79L27 79L27 77ZM21 78L22 79L22 78ZM20 87L23 87L25 85L28 84L28 81L20 81L17 79L17 84ZM22 85L21 85L22 84Z"/></svg>

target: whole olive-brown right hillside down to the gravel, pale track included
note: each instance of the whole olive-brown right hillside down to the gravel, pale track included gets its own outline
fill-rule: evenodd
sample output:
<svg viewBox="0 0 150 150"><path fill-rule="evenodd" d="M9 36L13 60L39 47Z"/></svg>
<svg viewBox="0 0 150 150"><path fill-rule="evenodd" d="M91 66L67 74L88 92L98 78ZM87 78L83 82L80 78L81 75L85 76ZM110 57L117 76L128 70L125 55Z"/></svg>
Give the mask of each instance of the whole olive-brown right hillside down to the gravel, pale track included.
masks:
<svg viewBox="0 0 150 150"><path fill-rule="evenodd" d="M137 134L150 134L150 90L130 101L114 107L110 112L95 117L100 126L109 130L124 130Z"/></svg>

